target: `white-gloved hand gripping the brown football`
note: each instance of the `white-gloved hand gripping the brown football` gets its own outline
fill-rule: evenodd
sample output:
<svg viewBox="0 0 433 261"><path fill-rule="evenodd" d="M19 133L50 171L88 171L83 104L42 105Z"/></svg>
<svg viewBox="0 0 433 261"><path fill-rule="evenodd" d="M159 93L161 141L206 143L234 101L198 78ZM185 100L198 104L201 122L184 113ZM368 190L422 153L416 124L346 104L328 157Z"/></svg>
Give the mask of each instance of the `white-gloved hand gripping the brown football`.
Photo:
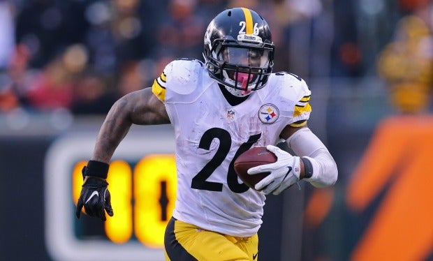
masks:
<svg viewBox="0 0 433 261"><path fill-rule="evenodd" d="M278 195L286 188L289 188L299 181L300 158L298 156L292 156L279 147L272 145L267 145L266 149L277 156L277 161L270 164L251 167L248 170L248 174L270 172L270 174L258 182L254 188L265 195L270 193Z"/></svg>

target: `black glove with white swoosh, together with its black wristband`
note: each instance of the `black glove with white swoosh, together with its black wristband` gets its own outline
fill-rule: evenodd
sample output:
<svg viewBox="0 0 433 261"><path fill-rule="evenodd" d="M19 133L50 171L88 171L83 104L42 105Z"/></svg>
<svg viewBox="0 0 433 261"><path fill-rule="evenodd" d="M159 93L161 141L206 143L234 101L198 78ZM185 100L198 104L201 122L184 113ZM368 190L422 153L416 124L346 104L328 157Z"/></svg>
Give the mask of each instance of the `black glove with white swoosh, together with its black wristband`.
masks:
<svg viewBox="0 0 433 261"><path fill-rule="evenodd" d="M91 175L92 171L94 175ZM87 167L83 167L82 174L83 178L87 177L87 179L85 179L85 184L82 185L80 198L78 199L75 211L77 218L80 218L81 209L85 207L87 215L101 218L102 221L107 220L105 211L107 211L108 216L114 215L111 207L110 191L107 188L108 182L105 181L108 174L108 164L89 161Z"/></svg>

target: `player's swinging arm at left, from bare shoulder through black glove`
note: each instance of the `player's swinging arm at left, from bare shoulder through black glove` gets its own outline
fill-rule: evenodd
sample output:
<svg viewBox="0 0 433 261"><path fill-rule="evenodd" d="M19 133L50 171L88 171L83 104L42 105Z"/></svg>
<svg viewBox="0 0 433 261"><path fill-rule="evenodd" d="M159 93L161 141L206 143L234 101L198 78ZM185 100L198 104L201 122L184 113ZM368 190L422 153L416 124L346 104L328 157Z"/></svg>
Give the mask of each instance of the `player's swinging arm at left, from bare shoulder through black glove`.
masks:
<svg viewBox="0 0 433 261"><path fill-rule="evenodd" d="M83 207L87 215L101 218L103 221L107 219L105 213L108 216L114 215L106 181L108 167L112 154L131 125L168 123L170 120L166 107L152 94L151 88L126 94L112 105L99 130L94 154L82 170L85 179L75 210L78 218Z"/></svg>

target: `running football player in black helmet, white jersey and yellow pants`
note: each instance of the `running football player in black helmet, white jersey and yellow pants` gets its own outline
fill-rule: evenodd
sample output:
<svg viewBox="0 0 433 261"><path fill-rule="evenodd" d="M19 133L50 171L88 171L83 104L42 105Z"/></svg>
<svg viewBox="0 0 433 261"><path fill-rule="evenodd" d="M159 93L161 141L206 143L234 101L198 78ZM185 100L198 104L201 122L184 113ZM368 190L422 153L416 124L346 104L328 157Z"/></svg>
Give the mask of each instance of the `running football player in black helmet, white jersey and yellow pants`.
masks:
<svg viewBox="0 0 433 261"><path fill-rule="evenodd" d="M337 166L307 128L311 92L292 73L272 73L270 28L247 8L219 13L205 32L204 63L179 59L152 85L120 98L101 126L76 214L113 215L105 179L110 159L132 124L172 124L177 199L165 234L166 260L257 260L265 195L304 179L332 186ZM296 155L275 147L284 139ZM235 158L267 145L277 162L256 190L239 181ZM116 184L112 184L116 186Z"/></svg>

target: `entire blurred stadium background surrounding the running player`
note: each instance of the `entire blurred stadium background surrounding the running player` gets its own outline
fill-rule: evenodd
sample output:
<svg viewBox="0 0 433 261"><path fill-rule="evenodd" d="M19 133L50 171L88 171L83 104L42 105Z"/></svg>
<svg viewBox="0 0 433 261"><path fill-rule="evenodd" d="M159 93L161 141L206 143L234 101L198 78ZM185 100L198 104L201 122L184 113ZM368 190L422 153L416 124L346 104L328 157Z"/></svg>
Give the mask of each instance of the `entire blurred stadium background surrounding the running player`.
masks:
<svg viewBox="0 0 433 261"><path fill-rule="evenodd" d="M332 188L268 197L260 260L433 260L429 0L0 0L1 259L161 260L159 239L140 236L149 228L118 239L74 218L78 166L112 103L173 59L202 60L207 24L234 6L270 24L274 71L307 81L309 126L339 167ZM130 174L173 153L170 126L131 133L115 157ZM164 175L154 197L170 211ZM140 191L131 182L124 191ZM133 221L116 222L146 223L126 209Z"/></svg>

